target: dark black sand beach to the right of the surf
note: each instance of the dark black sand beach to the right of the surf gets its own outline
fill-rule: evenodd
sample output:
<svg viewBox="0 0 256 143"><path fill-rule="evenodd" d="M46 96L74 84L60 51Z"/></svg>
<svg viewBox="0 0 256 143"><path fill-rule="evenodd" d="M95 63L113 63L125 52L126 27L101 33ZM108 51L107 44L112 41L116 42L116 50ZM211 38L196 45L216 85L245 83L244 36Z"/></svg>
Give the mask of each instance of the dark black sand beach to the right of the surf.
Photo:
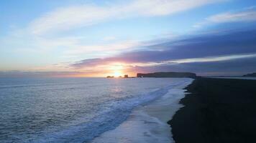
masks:
<svg viewBox="0 0 256 143"><path fill-rule="evenodd" d="M176 143L256 142L256 80L198 78L168 124Z"/></svg>

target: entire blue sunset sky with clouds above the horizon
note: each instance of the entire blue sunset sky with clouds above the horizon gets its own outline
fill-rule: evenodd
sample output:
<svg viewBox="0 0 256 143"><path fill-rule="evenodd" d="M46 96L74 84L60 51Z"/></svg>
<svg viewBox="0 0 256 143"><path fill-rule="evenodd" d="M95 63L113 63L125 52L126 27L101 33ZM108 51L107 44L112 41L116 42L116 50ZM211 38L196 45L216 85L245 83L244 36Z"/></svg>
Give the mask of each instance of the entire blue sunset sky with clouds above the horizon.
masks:
<svg viewBox="0 0 256 143"><path fill-rule="evenodd" d="M0 0L0 77L256 72L255 0Z"/></svg>

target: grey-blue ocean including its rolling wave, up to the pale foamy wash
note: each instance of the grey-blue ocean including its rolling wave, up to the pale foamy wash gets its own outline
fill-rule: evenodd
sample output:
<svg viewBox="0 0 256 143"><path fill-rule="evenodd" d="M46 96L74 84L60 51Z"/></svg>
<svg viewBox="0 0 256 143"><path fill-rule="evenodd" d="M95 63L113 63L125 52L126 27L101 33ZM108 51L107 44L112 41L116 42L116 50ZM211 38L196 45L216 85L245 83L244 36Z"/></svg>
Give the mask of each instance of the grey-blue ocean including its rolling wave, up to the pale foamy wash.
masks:
<svg viewBox="0 0 256 143"><path fill-rule="evenodd" d="M0 142L91 142L186 78L1 78ZM181 87L180 87L181 86Z"/></svg>

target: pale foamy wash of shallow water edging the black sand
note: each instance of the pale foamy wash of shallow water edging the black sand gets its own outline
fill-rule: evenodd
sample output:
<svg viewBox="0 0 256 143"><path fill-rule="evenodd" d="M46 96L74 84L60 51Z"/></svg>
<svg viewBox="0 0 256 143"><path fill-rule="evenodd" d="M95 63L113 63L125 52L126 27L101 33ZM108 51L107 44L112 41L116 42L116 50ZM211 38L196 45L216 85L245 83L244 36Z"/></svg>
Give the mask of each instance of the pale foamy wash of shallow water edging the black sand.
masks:
<svg viewBox="0 0 256 143"><path fill-rule="evenodd" d="M168 93L159 99L136 107L126 121L91 142L174 142L167 122L180 107L183 107L179 101L185 97L184 88L191 84L193 79L185 80L168 89Z"/></svg>

